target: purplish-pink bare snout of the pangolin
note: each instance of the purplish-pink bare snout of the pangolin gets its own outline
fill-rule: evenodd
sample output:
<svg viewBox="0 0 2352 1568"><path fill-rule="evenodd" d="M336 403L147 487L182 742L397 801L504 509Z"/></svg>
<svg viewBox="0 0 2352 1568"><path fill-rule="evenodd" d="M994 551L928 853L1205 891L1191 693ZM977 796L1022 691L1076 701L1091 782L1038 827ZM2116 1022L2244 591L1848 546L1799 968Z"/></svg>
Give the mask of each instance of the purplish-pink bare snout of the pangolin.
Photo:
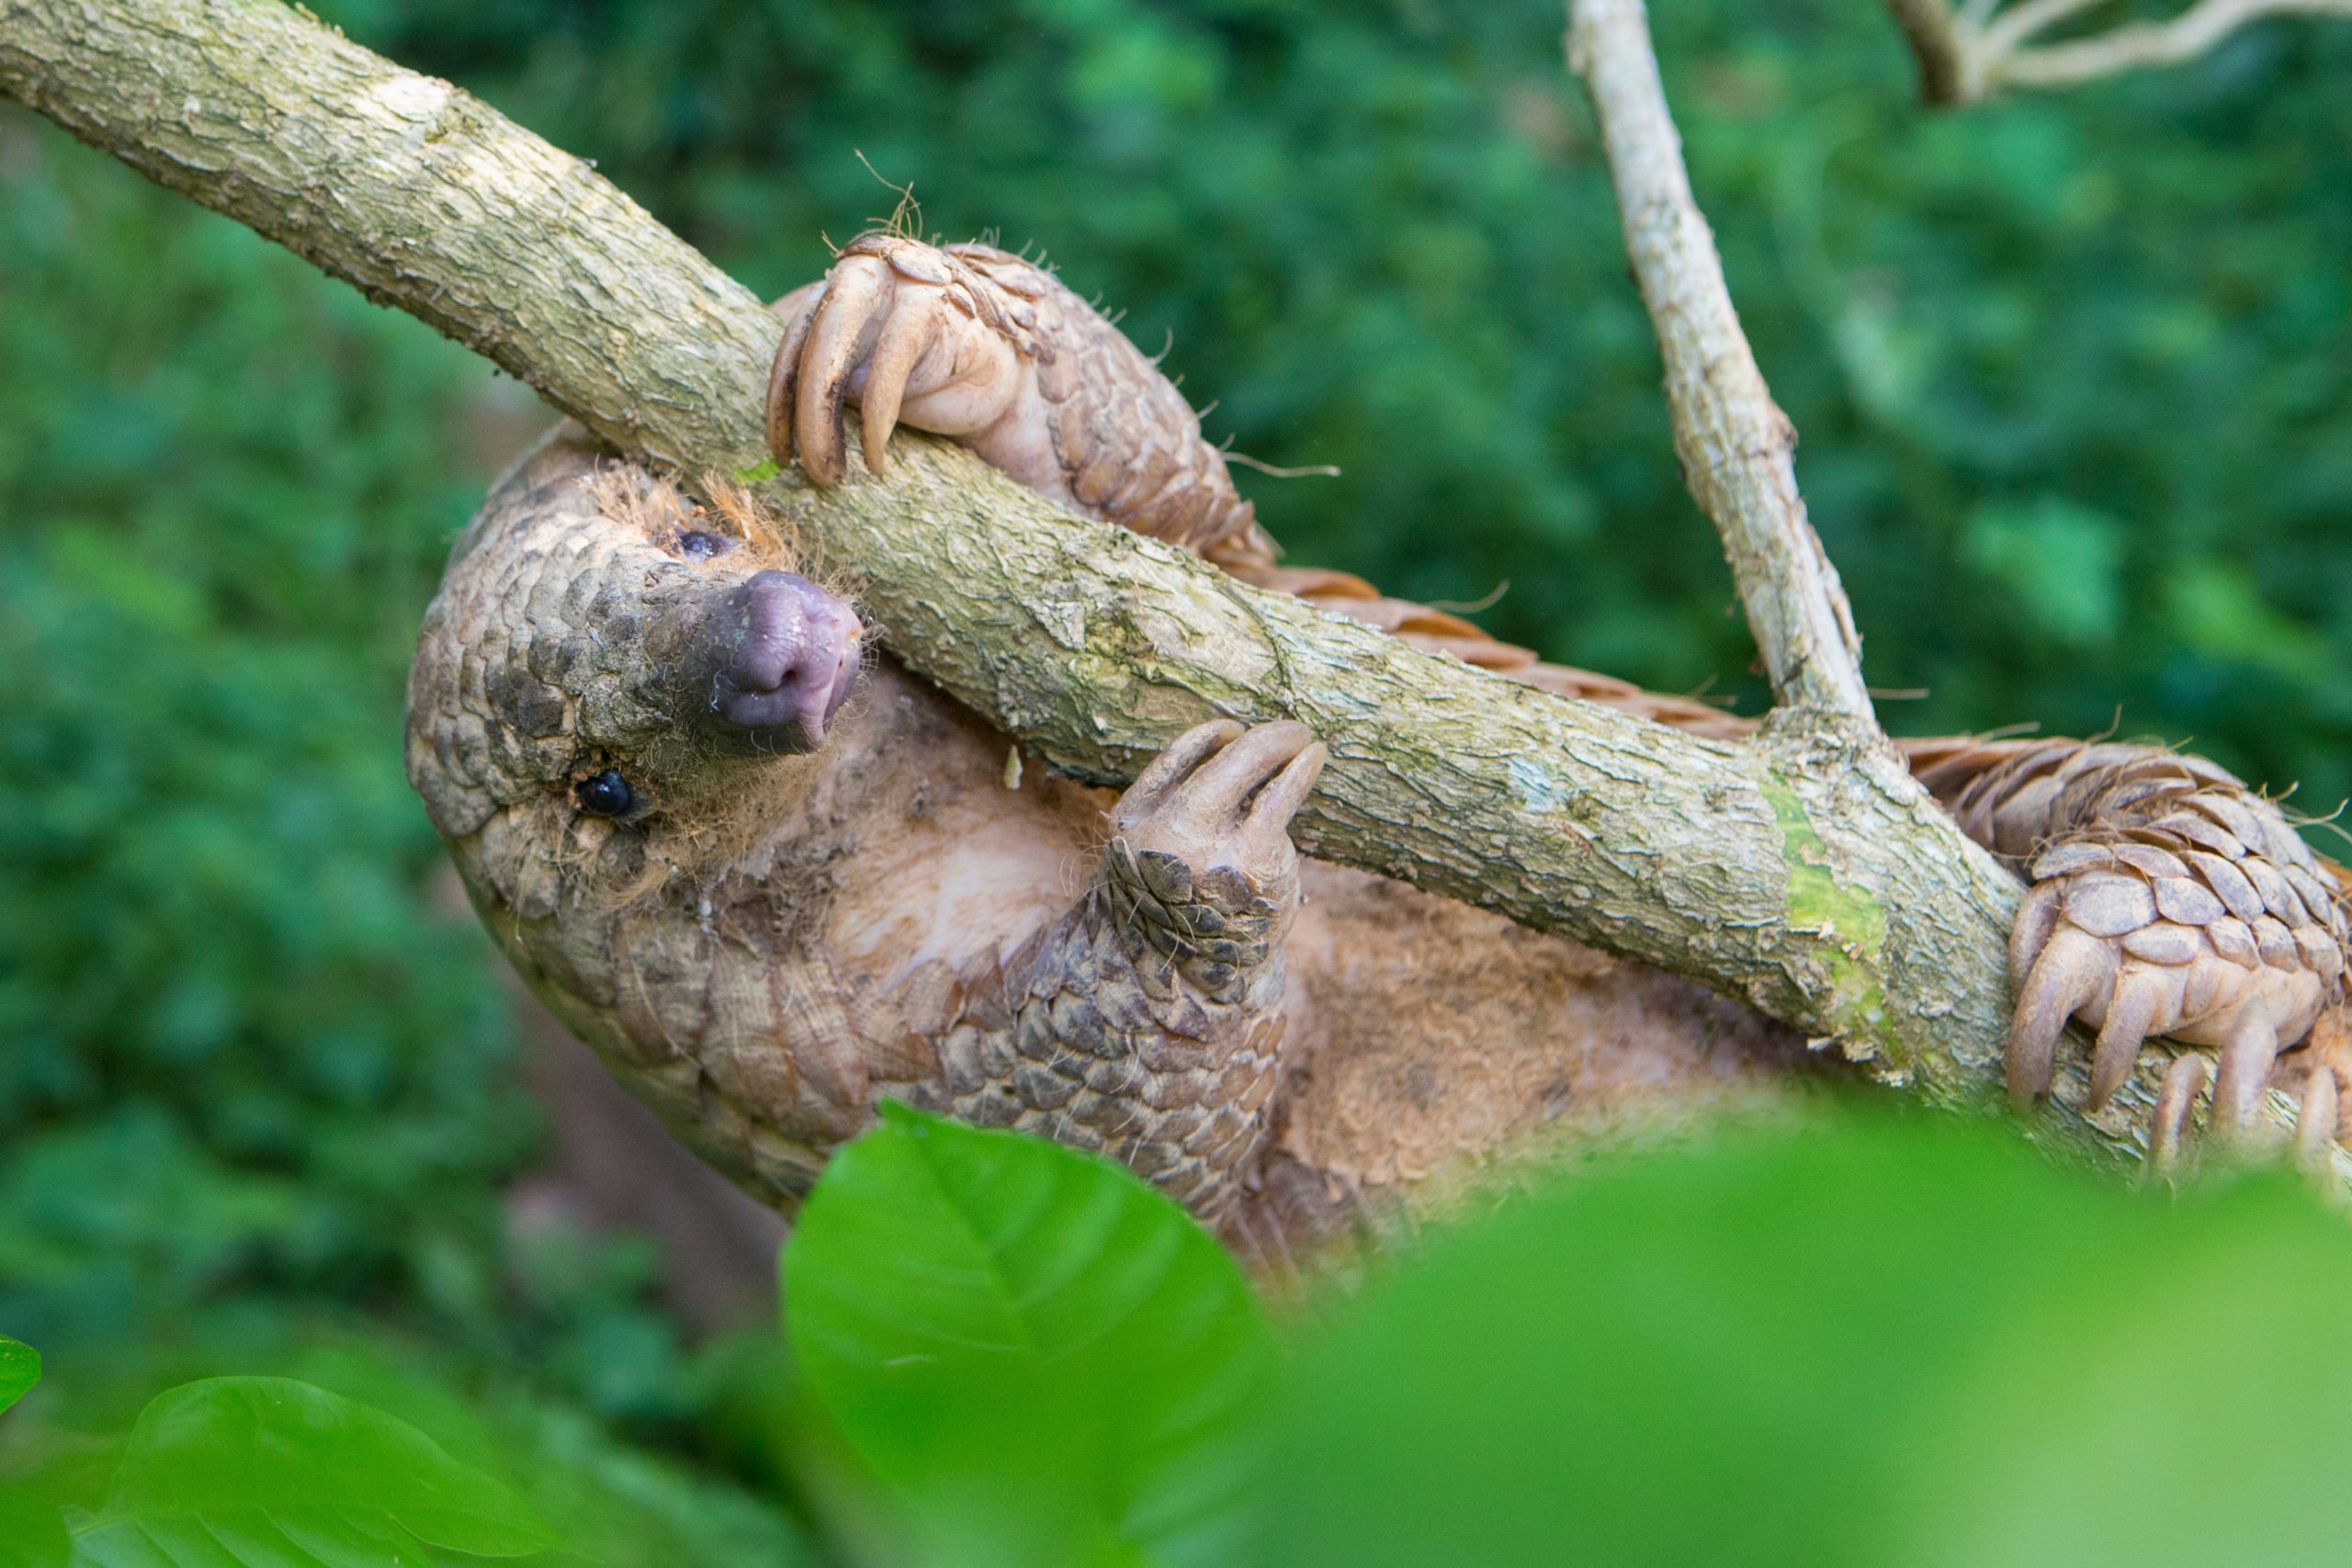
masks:
<svg viewBox="0 0 2352 1568"><path fill-rule="evenodd" d="M713 717L760 750L814 752L858 677L856 611L790 571L762 571L727 595L710 679Z"/></svg>

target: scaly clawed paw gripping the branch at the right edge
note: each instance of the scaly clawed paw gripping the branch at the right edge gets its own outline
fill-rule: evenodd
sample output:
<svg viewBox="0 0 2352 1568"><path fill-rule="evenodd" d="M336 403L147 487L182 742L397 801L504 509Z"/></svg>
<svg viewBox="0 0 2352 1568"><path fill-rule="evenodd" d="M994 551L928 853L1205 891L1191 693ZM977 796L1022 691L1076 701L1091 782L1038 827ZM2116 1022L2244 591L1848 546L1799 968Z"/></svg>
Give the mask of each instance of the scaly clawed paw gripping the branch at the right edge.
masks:
<svg viewBox="0 0 2352 1568"><path fill-rule="evenodd" d="M2343 994L2345 917L2340 891L2284 823L2270 832L2244 804L2239 816L2225 825L2187 813L2034 860L2009 943L2018 1100L2049 1093L2058 1039L2082 1018L2098 1030L2091 1110L2131 1074L2147 1037L2169 1034L2220 1046L2211 1124L2225 1135L2249 1126L2279 1051ZM2159 1124L2187 1114L2201 1084L2190 1074L2169 1081Z"/></svg>

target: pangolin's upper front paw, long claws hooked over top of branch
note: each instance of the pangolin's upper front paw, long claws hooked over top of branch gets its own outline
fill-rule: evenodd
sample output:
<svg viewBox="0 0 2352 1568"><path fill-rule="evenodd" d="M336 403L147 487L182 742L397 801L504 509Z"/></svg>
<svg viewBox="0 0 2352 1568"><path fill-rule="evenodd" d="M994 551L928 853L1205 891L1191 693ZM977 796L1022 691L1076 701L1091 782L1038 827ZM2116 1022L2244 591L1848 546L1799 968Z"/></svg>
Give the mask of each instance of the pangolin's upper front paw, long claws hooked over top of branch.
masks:
<svg viewBox="0 0 2352 1568"><path fill-rule="evenodd" d="M849 473L849 402L858 404L866 468L882 473L901 418L969 435L1018 395L1025 306L934 244L861 235L823 284L783 308L790 324L767 383L767 444L779 463L797 449L818 484Z"/></svg>

